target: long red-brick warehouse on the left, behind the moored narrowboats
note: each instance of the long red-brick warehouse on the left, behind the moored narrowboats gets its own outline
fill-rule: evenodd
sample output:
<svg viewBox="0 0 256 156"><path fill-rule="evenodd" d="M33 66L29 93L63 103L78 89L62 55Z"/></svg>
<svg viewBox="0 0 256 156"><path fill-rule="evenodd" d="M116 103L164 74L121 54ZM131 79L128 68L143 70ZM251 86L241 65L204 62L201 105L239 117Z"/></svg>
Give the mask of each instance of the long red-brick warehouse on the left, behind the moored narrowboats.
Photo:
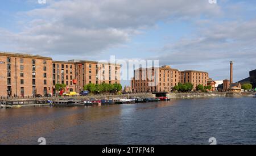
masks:
<svg viewBox="0 0 256 156"><path fill-rule="evenodd" d="M96 61L52 61L51 57L0 52L0 96L55 94L57 83L79 92L88 83L120 83L120 65Z"/></svg>

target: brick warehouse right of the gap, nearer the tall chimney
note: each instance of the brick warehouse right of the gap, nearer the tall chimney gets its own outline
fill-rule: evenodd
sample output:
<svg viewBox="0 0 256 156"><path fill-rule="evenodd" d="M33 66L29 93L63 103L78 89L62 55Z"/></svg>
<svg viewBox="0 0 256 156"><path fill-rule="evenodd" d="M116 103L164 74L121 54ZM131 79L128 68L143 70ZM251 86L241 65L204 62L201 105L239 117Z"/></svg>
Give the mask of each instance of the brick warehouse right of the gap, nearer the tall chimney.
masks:
<svg viewBox="0 0 256 156"><path fill-rule="evenodd" d="M131 88L133 92L169 92L178 83L190 82L195 89L199 84L207 86L208 78L208 73L204 71L179 71L167 65L160 68L139 68L134 70Z"/></svg>

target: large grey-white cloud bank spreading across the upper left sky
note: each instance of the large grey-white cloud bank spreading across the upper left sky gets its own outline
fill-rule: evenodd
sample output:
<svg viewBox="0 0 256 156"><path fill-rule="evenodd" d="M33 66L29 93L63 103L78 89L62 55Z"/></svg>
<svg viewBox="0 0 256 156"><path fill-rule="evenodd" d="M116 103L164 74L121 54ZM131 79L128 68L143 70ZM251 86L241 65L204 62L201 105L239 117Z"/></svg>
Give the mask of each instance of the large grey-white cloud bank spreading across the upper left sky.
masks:
<svg viewBox="0 0 256 156"><path fill-rule="evenodd" d="M23 12L19 33L2 30L3 47L28 53L92 55L118 46L158 21L220 14L208 1L51 1ZM14 44L15 43L15 44Z"/></svg>

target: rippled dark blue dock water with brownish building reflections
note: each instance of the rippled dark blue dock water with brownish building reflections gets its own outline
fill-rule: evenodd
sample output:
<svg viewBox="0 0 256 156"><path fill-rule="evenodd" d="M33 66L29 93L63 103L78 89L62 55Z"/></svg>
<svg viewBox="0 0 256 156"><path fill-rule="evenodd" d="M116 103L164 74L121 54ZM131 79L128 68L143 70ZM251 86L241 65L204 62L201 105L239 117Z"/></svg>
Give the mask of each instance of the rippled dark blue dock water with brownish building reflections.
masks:
<svg viewBox="0 0 256 156"><path fill-rule="evenodd" d="M0 144L256 144L256 98L0 109Z"/></svg>

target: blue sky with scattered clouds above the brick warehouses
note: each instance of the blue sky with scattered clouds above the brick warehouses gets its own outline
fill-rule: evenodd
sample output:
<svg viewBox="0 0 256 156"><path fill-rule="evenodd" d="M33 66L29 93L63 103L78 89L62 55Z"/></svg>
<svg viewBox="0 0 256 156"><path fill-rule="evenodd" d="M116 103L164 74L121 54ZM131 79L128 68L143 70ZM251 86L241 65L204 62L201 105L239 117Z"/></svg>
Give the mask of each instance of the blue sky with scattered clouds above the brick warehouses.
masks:
<svg viewBox="0 0 256 156"><path fill-rule="evenodd" d="M159 60L214 80L229 78L230 61L234 81L256 69L254 0L0 2L0 51L60 61Z"/></svg>

